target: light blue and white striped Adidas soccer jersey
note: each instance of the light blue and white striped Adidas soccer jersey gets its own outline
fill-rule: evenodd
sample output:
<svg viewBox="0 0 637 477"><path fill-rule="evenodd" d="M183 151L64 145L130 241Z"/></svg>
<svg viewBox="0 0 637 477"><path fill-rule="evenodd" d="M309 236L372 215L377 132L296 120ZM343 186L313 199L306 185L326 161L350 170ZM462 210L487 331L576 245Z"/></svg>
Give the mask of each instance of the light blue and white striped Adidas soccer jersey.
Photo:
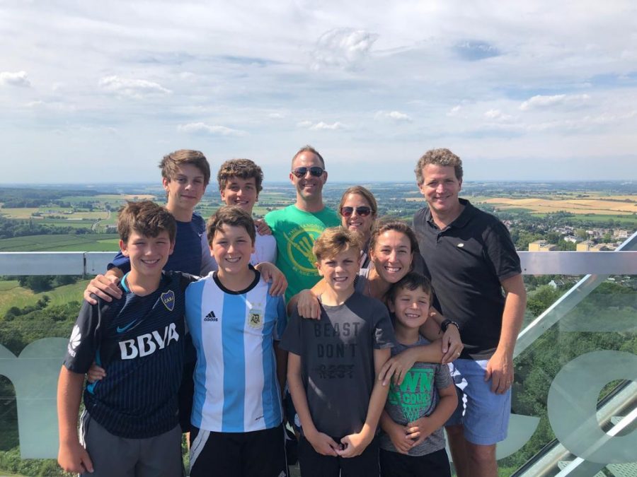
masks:
<svg viewBox="0 0 637 477"><path fill-rule="evenodd" d="M282 297L256 272L240 292L217 272L186 290L186 323L197 351L190 421L213 432L251 432L282 422L273 341L287 323Z"/></svg>

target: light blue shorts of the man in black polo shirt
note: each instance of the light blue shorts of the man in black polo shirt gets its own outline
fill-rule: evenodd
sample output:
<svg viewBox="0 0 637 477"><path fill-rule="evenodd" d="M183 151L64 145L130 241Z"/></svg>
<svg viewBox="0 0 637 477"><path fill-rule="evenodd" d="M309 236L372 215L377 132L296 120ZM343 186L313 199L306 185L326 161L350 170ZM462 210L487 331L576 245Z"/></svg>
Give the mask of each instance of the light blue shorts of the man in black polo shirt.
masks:
<svg viewBox="0 0 637 477"><path fill-rule="evenodd" d="M479 445L505 440L511 413L511 389L504 394L491 391L491 379L484 380L487 363L488 360L449 363L458 407L445 425L463 425L465 439Z"/></svg>

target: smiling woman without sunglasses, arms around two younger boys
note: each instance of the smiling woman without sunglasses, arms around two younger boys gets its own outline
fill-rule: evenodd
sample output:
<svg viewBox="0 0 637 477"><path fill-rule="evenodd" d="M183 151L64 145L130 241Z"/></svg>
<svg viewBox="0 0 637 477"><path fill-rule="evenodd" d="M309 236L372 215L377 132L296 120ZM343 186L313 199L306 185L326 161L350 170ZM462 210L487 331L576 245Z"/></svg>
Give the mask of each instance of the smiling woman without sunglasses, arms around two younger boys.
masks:
<svg viewBox="0 0 637 477"><path fill-rule="evenodd" d="M386 293L391 285L413 269L414 257L420 258L420 249L409 225L400 220L376 223L369 237L370 266L368 269L360 269L355 284L356 290L363 295L386 302ZM325 287L325 281L321 279L311 290L303 290L292 297L287 305L288 313L291 314L293 307L297 307L302 317L318 318L321 310L318 297ZM389 382L392 375L395 375L394 379L400 383L404 373L411 369L416 361L450 363L459 356L464 346L460 341L457 324L444 320L433 307L432 312L431 319L427 319L420 329L420 333L432 343L408 348L391 358L380 373L384 384Z"/></svg>

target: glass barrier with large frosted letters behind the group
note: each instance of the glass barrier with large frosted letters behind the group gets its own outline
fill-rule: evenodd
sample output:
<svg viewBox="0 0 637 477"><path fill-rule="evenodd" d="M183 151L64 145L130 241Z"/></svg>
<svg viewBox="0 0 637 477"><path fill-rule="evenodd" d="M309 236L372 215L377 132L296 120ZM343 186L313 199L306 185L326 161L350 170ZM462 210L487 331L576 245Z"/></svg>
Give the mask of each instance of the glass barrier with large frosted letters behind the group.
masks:
<svg viewBox="0 0 637 477"><path fill-rule="evenodd" d="M633 264L635 253L625 255ZM65 260L76 273L79 259ZM103 267L81 261L91 273ZM40 272L45 264L42 255ZM635 475L637 276L531 271L500 475ZM64 475L54 461L57 375L87 282L0 273L0 475Z"/></svg>

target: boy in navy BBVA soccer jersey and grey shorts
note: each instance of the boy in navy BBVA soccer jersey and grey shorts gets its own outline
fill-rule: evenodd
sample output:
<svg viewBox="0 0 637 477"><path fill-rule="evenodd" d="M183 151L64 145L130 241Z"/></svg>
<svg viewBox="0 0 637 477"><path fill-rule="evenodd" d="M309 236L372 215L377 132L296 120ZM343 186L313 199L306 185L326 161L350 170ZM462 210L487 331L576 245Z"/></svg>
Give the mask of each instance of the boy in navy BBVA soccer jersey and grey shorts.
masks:
<svg viewBox="0 0 637 477"><path fill-rule="evenodd" d="M192 278L162 272L176 233L166 209L130 202L117 230L131 269L120 281L122 298L85 301L74 326L58 382L58 462L93 476L178 476L184 291ZM93 360L107 374L84 390L80 444L78 411Z"/></svg>

